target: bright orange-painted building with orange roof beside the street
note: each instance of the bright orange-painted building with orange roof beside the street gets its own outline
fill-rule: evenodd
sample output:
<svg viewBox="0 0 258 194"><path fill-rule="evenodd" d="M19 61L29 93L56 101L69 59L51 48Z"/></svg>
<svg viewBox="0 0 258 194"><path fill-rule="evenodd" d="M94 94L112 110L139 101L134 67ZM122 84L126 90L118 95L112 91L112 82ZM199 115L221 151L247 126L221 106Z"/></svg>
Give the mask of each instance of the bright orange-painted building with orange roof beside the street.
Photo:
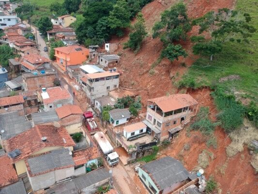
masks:
<svg viewBox="0 0 258 194"><path fill-rule="evenodd" d="M57 64L66 71L67 66L85 62L89 56L89 49L78 45L58 47L55 48L55 56Z"/></svg>

